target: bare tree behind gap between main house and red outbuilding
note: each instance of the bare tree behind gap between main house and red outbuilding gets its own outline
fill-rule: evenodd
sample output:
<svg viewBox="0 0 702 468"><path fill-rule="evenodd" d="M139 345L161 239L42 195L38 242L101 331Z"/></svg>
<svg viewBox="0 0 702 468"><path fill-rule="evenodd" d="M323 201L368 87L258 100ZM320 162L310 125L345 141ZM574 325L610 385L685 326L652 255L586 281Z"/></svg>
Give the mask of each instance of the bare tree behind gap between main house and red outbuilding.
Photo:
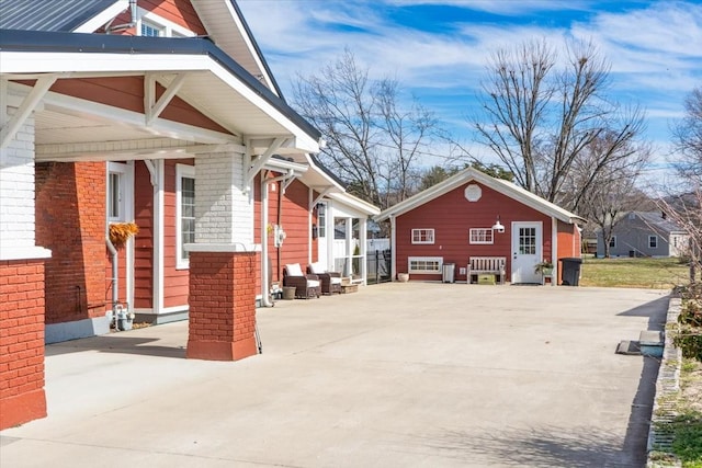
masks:
<svg viewBox="0 0 702 468"><path fill-rule="evenodd" d="M438 123L417 102L401 105L396 80L371 80L347 49L318 75L298 77L293 105L327 140L322 163L356 195L385 208L419 186Z"/></svg>

